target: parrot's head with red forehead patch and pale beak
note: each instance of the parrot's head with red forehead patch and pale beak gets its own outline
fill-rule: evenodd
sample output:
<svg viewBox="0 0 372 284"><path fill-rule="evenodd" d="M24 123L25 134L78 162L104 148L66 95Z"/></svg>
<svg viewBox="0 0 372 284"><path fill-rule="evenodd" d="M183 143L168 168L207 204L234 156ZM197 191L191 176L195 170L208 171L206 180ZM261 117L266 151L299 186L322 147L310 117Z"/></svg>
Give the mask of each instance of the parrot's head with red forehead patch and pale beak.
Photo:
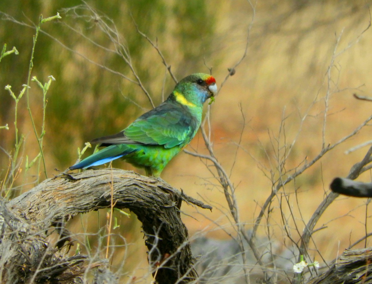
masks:
<svg viewBox="0 0 372 284"><path fill-rule="evenodd" d="M204 73L191 74L180 80L176 87L174 87L176 99L180 102L182 96L185 99L185 104L190 106L202 106L207 99L216 94L216 79Z"/></svg>

